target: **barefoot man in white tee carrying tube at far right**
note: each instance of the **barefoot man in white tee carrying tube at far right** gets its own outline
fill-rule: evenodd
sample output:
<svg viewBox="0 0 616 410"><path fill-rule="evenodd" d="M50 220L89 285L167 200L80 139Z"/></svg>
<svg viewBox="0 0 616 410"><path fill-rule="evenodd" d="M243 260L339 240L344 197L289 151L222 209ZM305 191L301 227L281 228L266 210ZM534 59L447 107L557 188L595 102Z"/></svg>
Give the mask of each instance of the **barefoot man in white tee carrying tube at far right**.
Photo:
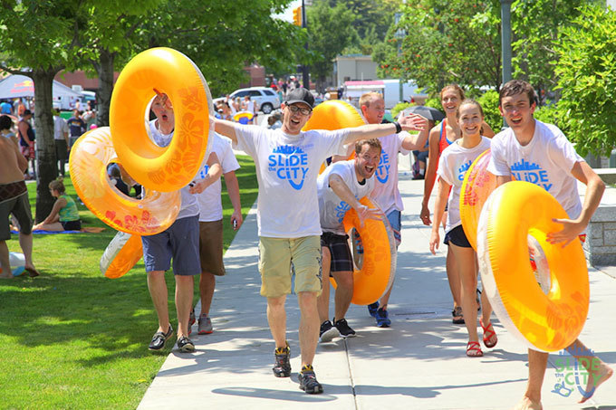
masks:
<svg viewBox="0 0 616 410"><path fill-rule="evenodd" d="M570 219L559 219L563 230L547 235L550 243L563 243L585 237L584 230L599 206L605 185L592 168L575 152L563 132L553 124L534 119L536 95L525 82L507 82L500 91L498 109L509 125L492 140L492 157L488 171L496 175L498 185L515 176L542 186L563 205ZM584 183L586 195L580 202L577 180ZM582 235L583 234L583 235ZM600 358L595 357L579 339L567 348L588 371L588 384L580 403L588 400L595 389L613 373ZM515 407L518 410L538 410L541 405L541 387L544 382L548 354L528 350L528 385L525 396ZM581 360L583 358L583 360Z"/></svg>

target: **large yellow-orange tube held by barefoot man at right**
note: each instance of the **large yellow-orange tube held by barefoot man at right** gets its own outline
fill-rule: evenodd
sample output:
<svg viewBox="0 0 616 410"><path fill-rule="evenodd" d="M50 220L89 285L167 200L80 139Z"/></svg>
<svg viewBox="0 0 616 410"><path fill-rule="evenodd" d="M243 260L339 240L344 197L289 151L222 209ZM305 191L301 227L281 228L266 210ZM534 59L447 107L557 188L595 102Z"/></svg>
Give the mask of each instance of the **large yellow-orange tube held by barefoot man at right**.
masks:
<svg viewBox="0 0 616 410"><path fill-rule="evenodd" d="M590 289L580 241L566 247L545 241L567 218L543 188L513 181L496 188L482 210L477 233L481 280L498 319L529 348L551 352L569 346L582 331ZM527 235L549 265L544 294L529 262Z"/></svg>

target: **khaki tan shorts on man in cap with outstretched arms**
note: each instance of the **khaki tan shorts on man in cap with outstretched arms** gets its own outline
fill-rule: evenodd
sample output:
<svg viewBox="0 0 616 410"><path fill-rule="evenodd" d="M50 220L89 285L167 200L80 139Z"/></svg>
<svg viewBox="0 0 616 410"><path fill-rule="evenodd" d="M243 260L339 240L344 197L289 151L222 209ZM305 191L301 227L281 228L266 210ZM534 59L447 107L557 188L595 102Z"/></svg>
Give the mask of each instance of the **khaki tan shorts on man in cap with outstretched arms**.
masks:
<svg viewBox="0 0 616 410"><path fill-rule="evenodd" d="M261 295L277 298L291 293L295 274L295 293L315 291L321 294L321 238L284 239L259 237Z"/></svg>

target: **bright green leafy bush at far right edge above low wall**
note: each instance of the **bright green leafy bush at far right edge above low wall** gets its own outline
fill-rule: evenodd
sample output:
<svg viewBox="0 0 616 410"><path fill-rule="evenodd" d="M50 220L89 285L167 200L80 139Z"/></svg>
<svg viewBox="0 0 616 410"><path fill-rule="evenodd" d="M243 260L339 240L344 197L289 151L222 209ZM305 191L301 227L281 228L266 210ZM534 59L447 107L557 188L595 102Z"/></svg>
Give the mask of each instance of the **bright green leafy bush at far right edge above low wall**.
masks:
<svg viewBox="0 0 616 410"><path fill-rule="evenodd" d="M555 52L560 126L581 155L610 155L616 145L616 12L586 5L563 28Z"/></svg>

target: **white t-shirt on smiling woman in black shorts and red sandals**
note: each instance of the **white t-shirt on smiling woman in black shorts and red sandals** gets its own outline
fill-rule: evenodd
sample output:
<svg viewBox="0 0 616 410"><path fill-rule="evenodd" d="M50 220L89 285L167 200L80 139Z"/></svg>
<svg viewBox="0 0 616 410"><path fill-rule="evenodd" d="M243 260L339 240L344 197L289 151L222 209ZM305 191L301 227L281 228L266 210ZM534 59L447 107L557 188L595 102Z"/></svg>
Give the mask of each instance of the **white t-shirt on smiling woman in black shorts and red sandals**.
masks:
<svg viewBox="0 0 616 410"><path fill-rule="evenodd" d="M438 159L437 175L452 186L449 192L447 224L445 232L451 231L457 225L462 224L460 219L460 191L464 176L476 157L490 148L490 138L482 137L481 142L473 148L464 148L459 143L462 138L451 143Z"/></svg>

